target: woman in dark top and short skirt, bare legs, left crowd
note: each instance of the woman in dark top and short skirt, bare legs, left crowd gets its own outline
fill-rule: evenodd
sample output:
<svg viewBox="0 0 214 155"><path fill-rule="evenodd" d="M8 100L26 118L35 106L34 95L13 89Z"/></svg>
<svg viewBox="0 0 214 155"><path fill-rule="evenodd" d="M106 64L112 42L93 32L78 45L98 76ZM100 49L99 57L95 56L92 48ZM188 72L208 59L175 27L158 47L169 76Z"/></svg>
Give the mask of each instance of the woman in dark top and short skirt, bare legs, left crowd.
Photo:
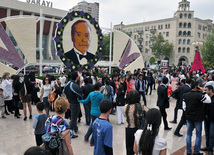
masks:
<svg viewBox="0 0 214 155"><path fill-rule="evenodd" d="M24 90L22 93L21 92L21 100L23 102L23 112L24 112L24 121L27 120L27 105L28 105L28 110L30 113L29 119L32 119L32 107L31 107L31 94L33 91L33 84L30 82L30 78L28 75L24 76L24 82L22 84L22 89Z"/></svg>

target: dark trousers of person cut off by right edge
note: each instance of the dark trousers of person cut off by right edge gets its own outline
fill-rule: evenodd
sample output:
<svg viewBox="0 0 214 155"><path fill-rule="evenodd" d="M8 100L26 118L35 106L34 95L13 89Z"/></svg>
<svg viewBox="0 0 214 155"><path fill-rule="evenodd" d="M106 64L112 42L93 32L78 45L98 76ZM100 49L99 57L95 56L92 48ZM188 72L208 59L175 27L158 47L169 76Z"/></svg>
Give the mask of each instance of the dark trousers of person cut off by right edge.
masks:
<svg viewBox="0 0 214 155"><path fill-rule="evenodd" d="M206 147L209 152L213 152L214 147L214 121L210 120L208 116L206 116L204 121L205 126L205 135L206 135Z"/></svg>

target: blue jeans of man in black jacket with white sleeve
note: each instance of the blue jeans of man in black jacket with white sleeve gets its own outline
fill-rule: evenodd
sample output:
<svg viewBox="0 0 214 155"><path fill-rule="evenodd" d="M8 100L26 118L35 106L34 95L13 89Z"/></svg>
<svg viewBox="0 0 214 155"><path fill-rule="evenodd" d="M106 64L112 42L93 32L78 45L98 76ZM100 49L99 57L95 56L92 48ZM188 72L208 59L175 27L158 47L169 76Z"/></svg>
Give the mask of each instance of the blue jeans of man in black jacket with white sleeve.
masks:
<svg viewBox="0 0 214 155"><path fill-rule="evenodd" d="M195 147L194 147L194 154L200 153L201 149L201 132L202 132L202 122L192 122L187 120L187 137L186 137L186 144L187 144L187 153L192 153L192 131L196 129L196 140L195 140Z"/></svg>

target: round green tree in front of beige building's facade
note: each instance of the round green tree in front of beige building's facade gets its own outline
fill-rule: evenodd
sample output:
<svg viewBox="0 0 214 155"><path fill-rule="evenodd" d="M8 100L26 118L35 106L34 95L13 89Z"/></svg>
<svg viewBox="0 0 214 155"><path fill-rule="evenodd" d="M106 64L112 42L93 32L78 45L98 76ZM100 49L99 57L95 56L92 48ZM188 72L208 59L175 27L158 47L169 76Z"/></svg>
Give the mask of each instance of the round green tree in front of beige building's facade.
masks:
<svg viewBox="0 0 214 155"><path fill-rule="evenodd" d="M158 59L160 59L161 56L170 57L173 47L172 43L167 43L162 35L158 35L155 36L154 43L152 45L152 52Z"/></svg>

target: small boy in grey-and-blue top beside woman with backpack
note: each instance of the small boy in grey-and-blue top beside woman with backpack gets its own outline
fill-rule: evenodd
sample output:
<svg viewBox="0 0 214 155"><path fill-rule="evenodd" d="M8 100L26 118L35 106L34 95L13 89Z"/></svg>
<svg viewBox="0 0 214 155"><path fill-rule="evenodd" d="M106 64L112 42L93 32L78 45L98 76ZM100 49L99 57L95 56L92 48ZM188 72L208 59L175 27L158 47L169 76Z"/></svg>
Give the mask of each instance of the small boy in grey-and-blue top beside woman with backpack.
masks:
<svg viewBox="0 0 214 155"><path fill-rule="evenodd" d="M45 104L43 102L38 102L36 104L36 109L39 114L34 117L32 127L35 129L34 133L37 146L40 146L43 143L42 135L45 134L45 121L47 115L46 113L43 113L44 108Z"/></svg>

